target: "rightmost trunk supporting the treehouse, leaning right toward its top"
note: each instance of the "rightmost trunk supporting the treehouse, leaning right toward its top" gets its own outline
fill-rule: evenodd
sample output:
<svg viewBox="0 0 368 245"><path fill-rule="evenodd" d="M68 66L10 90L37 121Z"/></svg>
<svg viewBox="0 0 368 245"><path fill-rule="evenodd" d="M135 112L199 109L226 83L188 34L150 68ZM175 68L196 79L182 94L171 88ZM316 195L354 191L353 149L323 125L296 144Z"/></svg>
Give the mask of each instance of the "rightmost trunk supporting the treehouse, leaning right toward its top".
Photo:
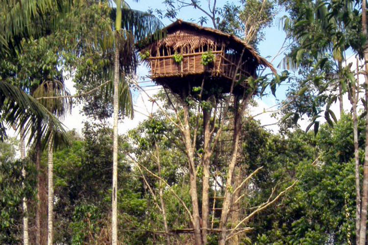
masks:
<svg viewBox="0 0 368 245"><path fill-rule="evenodd" d="M238 158L242 117L247 105L247 101L248 100L244 98L243 101L240 103L238 96L235 96L234 99L235 115L234 115L234 133L233 133L233 152L228 166L224 202L222 204L222 212L220 219L220 229L221 229L221 237L219 241L220 245L225 245L227 236L226 225L233 199L232 198L233 177L234 177L233 174Z"/></svg>

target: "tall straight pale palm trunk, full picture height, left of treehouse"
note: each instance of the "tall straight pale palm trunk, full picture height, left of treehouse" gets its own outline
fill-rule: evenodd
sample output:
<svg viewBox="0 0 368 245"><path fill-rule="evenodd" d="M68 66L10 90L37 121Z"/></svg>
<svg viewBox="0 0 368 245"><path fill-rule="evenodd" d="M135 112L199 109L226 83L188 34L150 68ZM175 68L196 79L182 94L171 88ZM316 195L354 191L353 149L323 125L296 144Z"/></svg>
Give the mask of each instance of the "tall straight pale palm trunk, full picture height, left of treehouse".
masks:
<svg viewBox="0 0 368 245"><path fill-rule="evenodd" d="M112 245L118 244L118 117L119 117L119 32L121 29L121 0L116 1L116 35L115 35L115 61L114 61L114 94L113 94L113 149L112 149L112 224L111 240Z"/></svg>

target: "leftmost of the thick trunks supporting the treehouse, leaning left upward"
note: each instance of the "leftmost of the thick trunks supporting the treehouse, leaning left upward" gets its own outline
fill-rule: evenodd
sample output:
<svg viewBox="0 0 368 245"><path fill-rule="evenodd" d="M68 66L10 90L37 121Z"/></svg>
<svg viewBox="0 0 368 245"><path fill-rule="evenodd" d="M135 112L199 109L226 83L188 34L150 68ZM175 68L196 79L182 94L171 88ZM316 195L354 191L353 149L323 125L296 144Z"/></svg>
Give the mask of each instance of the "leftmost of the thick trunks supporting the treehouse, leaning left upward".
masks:
<svg viewBox="0 0 368 245"><path fill-rule="evenodd" d="M198 194L197 194L197 176L194 161L194 148L191 140L190 125L189 125L189 106L183 100L184 109L184 129L183 136L186 145L188 162L189 162L189 176L190 176L190 195L192 199L192 216L193 216L193 230L194 239L196 245L202 244L201 232L200 232L200 220L199 220L199 207L198 207ZM195 139L194 139L195 140Z"/></svg>

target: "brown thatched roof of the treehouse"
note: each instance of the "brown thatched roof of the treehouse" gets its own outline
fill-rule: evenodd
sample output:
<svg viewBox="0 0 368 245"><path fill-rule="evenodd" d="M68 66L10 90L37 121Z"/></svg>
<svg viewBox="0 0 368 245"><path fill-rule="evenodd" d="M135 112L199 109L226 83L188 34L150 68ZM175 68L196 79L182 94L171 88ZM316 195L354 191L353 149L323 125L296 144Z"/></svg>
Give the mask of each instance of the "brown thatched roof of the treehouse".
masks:
<svg viewBox="0 0 368 245"><path fill-rule="evenodd" d="M166 33L166 36L158 41L150 41L146 43L144 47L140 47L140 50L147 50L154 47L171 46L174 49L180 47L187 47L190 50L198 48L200 45L208 44L210 46L216 45L216 43L226 43L227 47L233 48L238 52L242 52L245 48L246 53L254 57L254 59L260 64L269 67L273 73L277 73L275 68L265 58L261 57L257 51L249 44L243 42L237 36L226 34L219 30L202 27L192 22L186 22L181 19L169 24L162 30ZM198 35L200 33L200 35Z"/></svg>

